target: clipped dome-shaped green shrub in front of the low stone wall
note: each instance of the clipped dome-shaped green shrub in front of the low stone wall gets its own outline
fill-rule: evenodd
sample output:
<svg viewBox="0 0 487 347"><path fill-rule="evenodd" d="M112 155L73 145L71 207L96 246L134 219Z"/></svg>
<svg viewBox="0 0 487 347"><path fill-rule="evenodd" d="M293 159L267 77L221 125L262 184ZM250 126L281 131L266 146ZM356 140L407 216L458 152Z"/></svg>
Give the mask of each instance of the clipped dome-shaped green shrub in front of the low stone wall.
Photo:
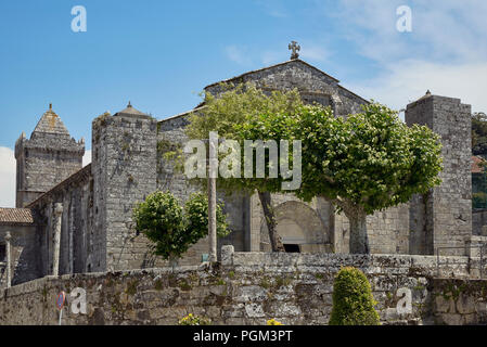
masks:
<svg viewBox="0 0 487 347"><path fill-rule="evenodd" d="M369 281L363 272L347 267L338 271L333 284L330 325L379 325L379 314Z"/></svg>

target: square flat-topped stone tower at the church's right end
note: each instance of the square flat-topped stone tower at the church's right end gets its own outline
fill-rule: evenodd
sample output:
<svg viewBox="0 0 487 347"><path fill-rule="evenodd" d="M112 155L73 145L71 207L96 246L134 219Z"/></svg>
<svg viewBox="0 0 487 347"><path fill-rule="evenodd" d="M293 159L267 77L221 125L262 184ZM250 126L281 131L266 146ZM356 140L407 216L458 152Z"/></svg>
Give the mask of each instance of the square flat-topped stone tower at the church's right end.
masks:
<svg viewBox="0 0 487 347"><path fill-rule="evenodd" d="M410 253L464 255L472 236L472 111L460 99L432 95L408 105L408 125L420 124L441 138L441 184L410 202Z"/></svg>

